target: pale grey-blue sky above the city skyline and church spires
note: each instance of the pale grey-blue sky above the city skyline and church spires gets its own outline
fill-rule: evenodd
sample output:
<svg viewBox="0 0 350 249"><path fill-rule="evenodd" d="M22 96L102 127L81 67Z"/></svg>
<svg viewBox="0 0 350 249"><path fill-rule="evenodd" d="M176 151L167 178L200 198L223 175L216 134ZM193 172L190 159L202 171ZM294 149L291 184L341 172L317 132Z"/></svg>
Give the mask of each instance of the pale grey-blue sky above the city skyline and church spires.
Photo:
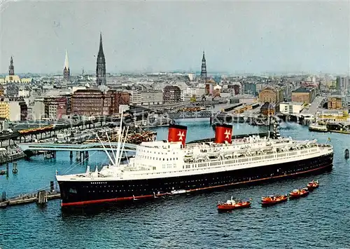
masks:
<svg viewBox="0 0 350 249"><path fill-rule="evenodd" d="M349 1L2 1L0 73L328 72L350 68Z"/></svg>

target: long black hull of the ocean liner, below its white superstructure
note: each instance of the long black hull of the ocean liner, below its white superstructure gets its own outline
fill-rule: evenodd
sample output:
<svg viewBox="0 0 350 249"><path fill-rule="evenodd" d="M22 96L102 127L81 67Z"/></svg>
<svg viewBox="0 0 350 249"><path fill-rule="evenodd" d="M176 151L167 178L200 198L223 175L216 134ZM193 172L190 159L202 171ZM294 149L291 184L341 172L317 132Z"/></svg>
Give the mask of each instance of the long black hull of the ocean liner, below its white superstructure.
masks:
<svg viewBox="0 0 350 249"><path fill-rule="evenodd" d="M62 206L82 206L92 203L156 198L167 194L199 192L209 189L258 184L279 178L318 174L332 169L333 154L270 166L239 170L166 177L147 180L101 180L94 182L58 182ZM178 192L176 192L178 191Z"/></svg>

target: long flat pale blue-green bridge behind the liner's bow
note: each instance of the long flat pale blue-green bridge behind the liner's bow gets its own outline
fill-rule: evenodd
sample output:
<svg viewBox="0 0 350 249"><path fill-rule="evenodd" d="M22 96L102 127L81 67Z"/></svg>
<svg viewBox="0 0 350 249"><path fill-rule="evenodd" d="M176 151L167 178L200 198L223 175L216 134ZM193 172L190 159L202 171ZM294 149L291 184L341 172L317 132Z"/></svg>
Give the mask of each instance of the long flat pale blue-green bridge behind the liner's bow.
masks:
<svg viewBox="0 0 350 249"><path fill-rule="evenodd" d="M116 149L118 147L118 142L103 143L107 151ZM52 143L22 143L18 144L23 152L26 151L50 151L50 152L89 152L89 151L103 151L104 147L99 142L89 143L89 144L52 144ZM111 148L112 147L112 148ZM136 150L137 144L127 144L125 143L124 152L134 152Z"/></svg>

